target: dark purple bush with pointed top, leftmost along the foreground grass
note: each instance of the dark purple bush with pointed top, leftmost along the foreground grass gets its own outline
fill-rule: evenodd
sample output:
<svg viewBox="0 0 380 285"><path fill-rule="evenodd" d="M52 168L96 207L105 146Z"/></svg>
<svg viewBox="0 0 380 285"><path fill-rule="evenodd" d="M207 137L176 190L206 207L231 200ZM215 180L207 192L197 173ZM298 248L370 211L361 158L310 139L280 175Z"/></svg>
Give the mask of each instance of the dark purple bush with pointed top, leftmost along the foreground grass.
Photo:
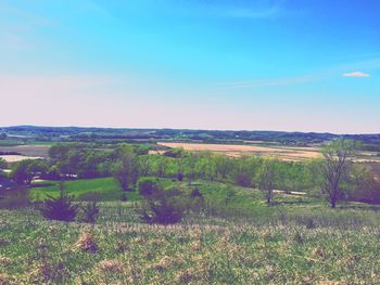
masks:
<svg viewBox="0 0 380 285"><path fill-rule="evenodd" d="M74 198L68 196L60 184L60 196L50 197L43 202L40 208L41 215L49 220L73 221L78 212L78 205L74 204Z"/></svg>

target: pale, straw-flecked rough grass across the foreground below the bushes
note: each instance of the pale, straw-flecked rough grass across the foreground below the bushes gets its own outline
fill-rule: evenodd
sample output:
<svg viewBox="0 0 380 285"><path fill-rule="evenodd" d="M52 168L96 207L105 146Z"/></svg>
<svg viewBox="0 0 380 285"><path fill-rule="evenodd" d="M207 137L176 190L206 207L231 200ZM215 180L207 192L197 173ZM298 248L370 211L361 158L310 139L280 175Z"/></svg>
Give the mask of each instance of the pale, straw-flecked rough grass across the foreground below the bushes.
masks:
<svg viewBox="0 0 380 285"><path fill-rule="evenodd" d="M213 224L90 226L1 210L0 284L380 283L378 225Z"/></svg>

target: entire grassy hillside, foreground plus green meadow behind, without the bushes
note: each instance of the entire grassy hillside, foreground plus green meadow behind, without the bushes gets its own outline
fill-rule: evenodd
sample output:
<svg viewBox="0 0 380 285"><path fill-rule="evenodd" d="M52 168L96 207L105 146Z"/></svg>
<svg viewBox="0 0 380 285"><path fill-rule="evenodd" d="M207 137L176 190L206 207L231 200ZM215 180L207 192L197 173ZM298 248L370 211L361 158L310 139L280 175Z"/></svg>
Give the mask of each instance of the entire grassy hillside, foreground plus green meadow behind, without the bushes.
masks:
<svg viewBox="0 0 380 285"><path fill-rule="evenodd" d="M34 209L0 210L0 284L379 284L380 208L207 181L161 179L199 189L203 213L175 225L140 221L112 178L67 181L77 198L98 193L96 224L43 220ZM58 195L56 182L33 187ZM53 184L53 185L49 185ZM226 195L232 190L228 204Z"/></svg>

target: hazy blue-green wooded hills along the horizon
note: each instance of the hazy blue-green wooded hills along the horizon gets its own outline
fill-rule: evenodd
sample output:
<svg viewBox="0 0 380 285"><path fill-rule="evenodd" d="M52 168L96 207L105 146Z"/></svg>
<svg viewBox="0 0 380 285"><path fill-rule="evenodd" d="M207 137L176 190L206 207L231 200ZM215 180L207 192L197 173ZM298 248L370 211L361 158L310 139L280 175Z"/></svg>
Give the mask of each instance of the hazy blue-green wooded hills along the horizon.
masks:
<svg viewBox="0 0 380 285"><path fill-rule="evenodd" d="M8 134L18 134L38 140L101 141L119 140L197 140L208 143L239 143L243 141L276 142L289 145L324 143L338 138L363 142L366 151L380 151L380 134L333 134L316 132L283 131L219 131L186 129L113 129L79 127L16 126L2 129Z"/></svg>

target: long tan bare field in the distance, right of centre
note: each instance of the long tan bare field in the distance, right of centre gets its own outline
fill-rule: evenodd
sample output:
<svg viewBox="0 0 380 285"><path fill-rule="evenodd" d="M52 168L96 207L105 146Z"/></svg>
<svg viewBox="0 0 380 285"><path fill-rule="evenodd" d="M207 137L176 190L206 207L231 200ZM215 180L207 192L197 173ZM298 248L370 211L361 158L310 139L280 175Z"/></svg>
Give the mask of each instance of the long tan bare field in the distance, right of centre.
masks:
<svg viewBox="0 0 380 285"><path fill-rule="evenodd" d="M205 143L180 143L180 142L159 142L159 145L183 148L186 151L208 151L213 153L223 153L228 156L239 157L242 155L262 155L278 157L282 160L305 160L320 157L319 150L316 147L289 147L289 146L257 146L239 144L205 144Z"/></svg>

